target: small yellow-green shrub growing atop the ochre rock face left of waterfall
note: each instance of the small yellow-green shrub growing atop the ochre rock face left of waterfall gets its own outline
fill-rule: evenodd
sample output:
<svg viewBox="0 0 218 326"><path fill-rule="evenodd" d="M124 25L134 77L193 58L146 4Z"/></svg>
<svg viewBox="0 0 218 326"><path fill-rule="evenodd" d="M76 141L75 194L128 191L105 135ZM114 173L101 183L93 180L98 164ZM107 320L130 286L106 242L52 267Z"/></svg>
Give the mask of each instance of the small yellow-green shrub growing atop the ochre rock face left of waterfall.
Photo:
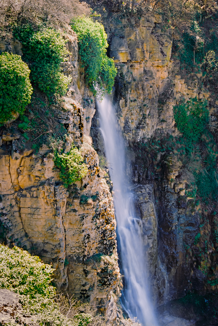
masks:
<svg viewBox="0 0 218 326"><path fill-rule="evenodd" d="M77 148L71 149L68 154L54 153L54 162L60 170L60 177L64 181L65 187L82 179L88 172L87 166L83 163L83 156Z"/></svg>

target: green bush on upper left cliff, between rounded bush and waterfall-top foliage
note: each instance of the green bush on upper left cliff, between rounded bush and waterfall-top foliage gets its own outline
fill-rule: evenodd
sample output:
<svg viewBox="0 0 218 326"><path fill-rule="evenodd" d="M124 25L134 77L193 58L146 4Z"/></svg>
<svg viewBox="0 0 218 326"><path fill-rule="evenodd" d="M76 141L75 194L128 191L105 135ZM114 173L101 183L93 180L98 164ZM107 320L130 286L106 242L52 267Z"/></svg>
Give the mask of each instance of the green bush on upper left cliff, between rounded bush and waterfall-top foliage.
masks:
<svg viewBox="0 0 218 326"><path fill-rule="evenodd" d="M34 31L30 25L22 25L15 29L15 36L24 46L24 58L32 63L32 81L48 96L63 96L71 77L60 72L60 63L68 54L60 33L51 28Z"/></svg>

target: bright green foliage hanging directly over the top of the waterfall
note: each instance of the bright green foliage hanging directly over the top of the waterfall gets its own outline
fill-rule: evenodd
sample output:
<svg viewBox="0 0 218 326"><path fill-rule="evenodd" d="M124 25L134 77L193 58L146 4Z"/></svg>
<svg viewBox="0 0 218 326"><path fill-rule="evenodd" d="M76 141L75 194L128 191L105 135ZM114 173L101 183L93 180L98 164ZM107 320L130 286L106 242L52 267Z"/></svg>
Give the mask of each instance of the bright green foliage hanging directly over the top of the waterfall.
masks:
<svg viewBox="0 0 218 326"><path fill-rule="evenodd" d="M108 43L103 25L87 17L76 17L72 19L71 26L77 33L86 84L94 95L101 96L103 88L110 93L117 69L106 55Z"/></svg>

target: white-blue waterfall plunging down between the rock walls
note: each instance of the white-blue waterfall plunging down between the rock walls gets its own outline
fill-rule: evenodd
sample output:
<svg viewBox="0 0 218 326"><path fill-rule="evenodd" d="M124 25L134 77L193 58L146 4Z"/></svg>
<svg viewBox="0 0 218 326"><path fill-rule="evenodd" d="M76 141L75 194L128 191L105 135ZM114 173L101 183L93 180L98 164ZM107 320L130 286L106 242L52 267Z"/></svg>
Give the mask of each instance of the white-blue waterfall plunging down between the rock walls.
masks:
<svg viewBox="0 0 218 326"><path fill-rule="evenodd" d="M128 190L129 182L125 174L124 141L109 99L105 98L98 103L98 110L113 182L117 234L125 277L122 304L128 315L131 318L137 317L143 326L157 326L148 295L145 254L139 229L140 219L136 216L134 196Z"/></svg>

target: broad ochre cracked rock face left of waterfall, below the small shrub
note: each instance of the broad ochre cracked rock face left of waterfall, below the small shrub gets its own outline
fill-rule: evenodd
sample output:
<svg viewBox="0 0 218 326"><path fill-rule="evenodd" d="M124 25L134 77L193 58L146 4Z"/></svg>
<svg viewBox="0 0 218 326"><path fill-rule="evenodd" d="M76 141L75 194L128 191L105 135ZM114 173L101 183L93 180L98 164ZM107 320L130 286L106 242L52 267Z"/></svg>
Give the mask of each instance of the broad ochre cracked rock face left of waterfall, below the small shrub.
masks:
<svg viewBox="0 0 218 326"><path fill-rule="evenodd" d="M82 150L88 174L70 192L52 159L1 153L1 222L7 242L52 263L59 289L104 311L120 291L116 221L98 156Z"/></svg>

